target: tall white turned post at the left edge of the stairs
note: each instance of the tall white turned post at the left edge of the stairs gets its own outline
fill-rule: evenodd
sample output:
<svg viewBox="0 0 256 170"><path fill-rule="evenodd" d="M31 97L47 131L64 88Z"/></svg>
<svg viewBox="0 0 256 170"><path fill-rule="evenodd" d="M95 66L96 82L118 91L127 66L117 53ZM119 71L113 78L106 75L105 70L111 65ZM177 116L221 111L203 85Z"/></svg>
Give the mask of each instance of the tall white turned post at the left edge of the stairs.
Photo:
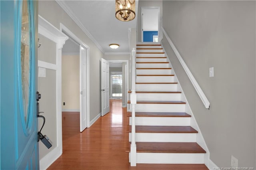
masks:
<svg viewBox="0 0 256 170"><path fill-rule="evenodd" d="M132 93L130 94L130 101L132 105L132 142L130 149L130 165L136 166L136 143L135 143L135 105L137 103L136 99L136 61L135 61L136 50L132 48Z"/></svg>

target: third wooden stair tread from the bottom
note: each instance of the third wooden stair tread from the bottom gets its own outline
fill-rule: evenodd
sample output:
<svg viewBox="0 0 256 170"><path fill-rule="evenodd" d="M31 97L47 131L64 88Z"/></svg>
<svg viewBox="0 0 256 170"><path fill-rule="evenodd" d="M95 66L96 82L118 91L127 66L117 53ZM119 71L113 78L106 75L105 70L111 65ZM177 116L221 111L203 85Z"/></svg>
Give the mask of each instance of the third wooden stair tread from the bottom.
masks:
<svg viewBox="0 0 256 170"><path fill-rule="evenodd" d="M132 112L127 112L132 117ZM185 112L135 112L135 117L191 117Z"/></svg>

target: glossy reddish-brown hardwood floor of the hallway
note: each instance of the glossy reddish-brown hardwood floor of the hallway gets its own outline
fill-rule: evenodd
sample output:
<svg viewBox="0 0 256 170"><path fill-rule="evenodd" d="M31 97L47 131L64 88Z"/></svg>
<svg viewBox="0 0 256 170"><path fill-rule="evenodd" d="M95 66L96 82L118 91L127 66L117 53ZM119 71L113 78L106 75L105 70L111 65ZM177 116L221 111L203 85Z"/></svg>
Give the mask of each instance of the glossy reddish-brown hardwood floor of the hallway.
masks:
<svg viewBox="0 0 256 170"><path fill-rule="evenodd" d="M208 170L202 164L137 164L130 167L127 125L121 100L110 100L110 113L79 132L79 113L62 113L63 154L48 170Z"/></svg>

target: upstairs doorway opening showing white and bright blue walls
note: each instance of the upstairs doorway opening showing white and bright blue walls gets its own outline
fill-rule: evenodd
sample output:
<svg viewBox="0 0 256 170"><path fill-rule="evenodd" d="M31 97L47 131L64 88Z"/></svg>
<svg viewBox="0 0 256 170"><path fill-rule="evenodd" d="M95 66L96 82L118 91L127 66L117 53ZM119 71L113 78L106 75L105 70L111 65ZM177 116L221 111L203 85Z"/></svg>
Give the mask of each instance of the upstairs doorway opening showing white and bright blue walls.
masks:
<svg viewBox="0 0 256 170"><path fill-rule="evenodd" d="M141 7L141 41L158 42L160 7Z"/></svg>

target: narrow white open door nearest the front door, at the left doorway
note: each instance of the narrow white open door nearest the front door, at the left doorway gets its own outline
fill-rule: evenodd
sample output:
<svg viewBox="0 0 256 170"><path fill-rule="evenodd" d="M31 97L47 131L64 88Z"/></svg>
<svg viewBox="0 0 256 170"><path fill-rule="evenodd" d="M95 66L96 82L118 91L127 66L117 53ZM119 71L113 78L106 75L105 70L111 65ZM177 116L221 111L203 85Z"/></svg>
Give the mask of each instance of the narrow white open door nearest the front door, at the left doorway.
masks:
<svg viewBox="0 0 256 170"><path fill-rule="evenodd" d="M80 45L80 132L87 127L86 49Z"/></svg>

